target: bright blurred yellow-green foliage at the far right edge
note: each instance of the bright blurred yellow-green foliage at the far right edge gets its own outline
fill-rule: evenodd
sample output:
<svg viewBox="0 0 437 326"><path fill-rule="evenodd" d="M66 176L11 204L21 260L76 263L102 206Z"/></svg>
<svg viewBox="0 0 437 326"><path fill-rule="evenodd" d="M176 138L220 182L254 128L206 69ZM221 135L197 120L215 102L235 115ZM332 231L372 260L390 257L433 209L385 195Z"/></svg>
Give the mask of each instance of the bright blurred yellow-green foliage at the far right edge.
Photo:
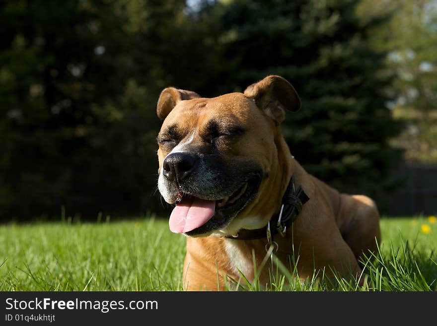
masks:
<svg viewBox="0 0 437 326"><path fill-rule="evenodd" d="M358 13L372 19L381 12L391 17L371 31L372 47L388 53L395 72L390 107L407 128L394 143L404 148L409 162L437 162L437 1L364 0Z"/></svg>

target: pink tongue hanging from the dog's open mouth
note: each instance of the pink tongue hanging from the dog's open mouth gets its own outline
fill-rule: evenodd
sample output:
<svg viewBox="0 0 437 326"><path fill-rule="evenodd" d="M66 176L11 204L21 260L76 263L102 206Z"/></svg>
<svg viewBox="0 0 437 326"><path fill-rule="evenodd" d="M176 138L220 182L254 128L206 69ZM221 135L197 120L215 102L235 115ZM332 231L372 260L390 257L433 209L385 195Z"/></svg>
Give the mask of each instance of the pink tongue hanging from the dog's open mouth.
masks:
<svg viewBox="0 0 437 326"><path fill-rule="evenodd" d="M204 200L195 197L182 199L173 208L168 225L174 233L185 233L198 228L214 216L215 200Z"/></svg>

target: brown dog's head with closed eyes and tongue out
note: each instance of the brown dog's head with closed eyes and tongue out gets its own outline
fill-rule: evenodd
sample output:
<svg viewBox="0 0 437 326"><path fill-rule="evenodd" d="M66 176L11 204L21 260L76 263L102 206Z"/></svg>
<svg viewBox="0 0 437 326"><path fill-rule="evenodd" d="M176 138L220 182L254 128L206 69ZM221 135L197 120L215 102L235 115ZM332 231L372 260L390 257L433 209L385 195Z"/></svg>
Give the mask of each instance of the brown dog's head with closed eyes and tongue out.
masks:
<svg viewBox="0 0 437 326"><path fill-rule="evenodd" d="M299 108L294 88L279 76L250 85L244 94L215 98L165 88L157 104L164 120L157 136L158 189L177 204L170 229L223 236L265 226L274 213L269 198L282 197L272 194L284 164L278 161L279 125L285 110Z"/></svg>

